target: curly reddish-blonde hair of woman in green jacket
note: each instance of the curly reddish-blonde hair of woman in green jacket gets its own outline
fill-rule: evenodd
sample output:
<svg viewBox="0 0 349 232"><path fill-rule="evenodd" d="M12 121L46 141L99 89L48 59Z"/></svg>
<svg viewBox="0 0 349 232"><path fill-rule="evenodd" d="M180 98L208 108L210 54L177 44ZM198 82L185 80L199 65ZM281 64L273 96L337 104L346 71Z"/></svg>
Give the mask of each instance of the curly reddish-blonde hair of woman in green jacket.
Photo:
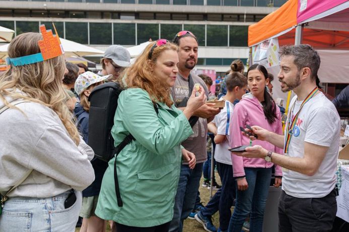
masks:
<svg viewBox="0 0 349 232"><path fill-rule="evenodd" d="M156 64L157 58L164 51L173 50L177 52L178 47L170 42L155 47L151 57L153 65L149 65L149 53L155 43L156 41L149 44L143 53L135 60L134 64L123 71L120 76L124 76L125 78L119 78L119 82L121 85L128 88L142 88L149 93L152 101L164 102L171 107L173 101L170 96L170 88L165 86L163 81L154 75L152 68Z"/></svg>

